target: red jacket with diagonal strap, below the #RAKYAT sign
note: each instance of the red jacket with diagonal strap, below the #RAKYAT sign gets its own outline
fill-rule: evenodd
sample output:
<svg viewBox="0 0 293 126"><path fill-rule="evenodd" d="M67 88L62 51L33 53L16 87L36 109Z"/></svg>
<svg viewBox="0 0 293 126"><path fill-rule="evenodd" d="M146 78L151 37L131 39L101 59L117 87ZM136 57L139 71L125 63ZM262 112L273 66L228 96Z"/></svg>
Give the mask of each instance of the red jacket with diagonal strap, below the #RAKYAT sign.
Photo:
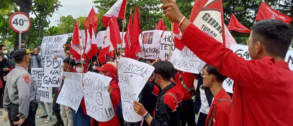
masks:
<svg viewBox="0 0 293 126"><path fill-rule="evenodd" d="M193 73L188 73L188 72L180 72L178 74L175 74L175 81L178 84L178 86L180 86L180 89L184 95L183 100L189 100L189 99L191 99L191 94L182 86L181 81L179 79L180 74L181 74L181 77L183 79L184 84L186 84L190 89L193 88L195 76Z"/></svg>

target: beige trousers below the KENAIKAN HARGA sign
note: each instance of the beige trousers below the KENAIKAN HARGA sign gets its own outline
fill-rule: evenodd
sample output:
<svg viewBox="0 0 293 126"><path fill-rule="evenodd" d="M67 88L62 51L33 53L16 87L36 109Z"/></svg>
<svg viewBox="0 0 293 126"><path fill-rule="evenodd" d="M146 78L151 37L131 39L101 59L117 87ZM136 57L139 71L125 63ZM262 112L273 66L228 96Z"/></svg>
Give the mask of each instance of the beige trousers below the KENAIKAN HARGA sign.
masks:
<svg viewBox="0 0 293 126"><path fill-rule="evenodd" d="M60 109L61 109L60 114L64 122L64 126L73 126L71 108L65 105L60 105Z"/></svg>

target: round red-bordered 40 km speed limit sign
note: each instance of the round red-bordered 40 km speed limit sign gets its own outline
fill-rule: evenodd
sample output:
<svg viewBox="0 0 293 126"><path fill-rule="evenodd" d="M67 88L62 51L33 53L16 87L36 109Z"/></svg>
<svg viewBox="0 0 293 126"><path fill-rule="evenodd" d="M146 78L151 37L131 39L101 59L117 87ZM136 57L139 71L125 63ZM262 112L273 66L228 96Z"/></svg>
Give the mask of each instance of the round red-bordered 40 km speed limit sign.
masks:
<svg viewBox="0 0 293 126"><path fill-rule="evenodd" d="M17 33L25 33L30 29L30 17L23 12L13 13L9 18L9 25Z"/></svg>

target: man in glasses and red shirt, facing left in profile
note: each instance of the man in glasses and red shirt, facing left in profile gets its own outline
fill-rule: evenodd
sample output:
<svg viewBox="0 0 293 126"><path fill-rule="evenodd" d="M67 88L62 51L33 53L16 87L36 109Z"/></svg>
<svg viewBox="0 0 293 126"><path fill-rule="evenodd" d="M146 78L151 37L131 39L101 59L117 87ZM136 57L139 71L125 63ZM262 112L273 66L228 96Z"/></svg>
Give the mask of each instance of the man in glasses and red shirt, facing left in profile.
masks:
<svg viewBox="0 0 293 126"><path fill-rule="evenodd" d="M217 67L210 65L207 65L200 74L203 77L203 86L210 87L215 96L205 126L229 125L232 99L223 88L223 81L227 77L220 74Z"/></svg>

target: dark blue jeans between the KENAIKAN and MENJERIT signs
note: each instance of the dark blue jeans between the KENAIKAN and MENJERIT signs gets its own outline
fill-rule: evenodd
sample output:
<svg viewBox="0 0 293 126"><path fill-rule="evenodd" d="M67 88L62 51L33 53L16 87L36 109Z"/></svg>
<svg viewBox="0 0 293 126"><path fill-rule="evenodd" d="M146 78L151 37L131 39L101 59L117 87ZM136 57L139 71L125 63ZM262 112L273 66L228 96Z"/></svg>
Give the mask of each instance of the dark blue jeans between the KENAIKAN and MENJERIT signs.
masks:
<svg viewBox="0 0 293 126"><path fill-rule="evenodd" d="M72 110L73 116L73 126L90 126L91 125L91 117L84 115L82 112L81 106L79 106L77 113L75 110Z"/></svg>

